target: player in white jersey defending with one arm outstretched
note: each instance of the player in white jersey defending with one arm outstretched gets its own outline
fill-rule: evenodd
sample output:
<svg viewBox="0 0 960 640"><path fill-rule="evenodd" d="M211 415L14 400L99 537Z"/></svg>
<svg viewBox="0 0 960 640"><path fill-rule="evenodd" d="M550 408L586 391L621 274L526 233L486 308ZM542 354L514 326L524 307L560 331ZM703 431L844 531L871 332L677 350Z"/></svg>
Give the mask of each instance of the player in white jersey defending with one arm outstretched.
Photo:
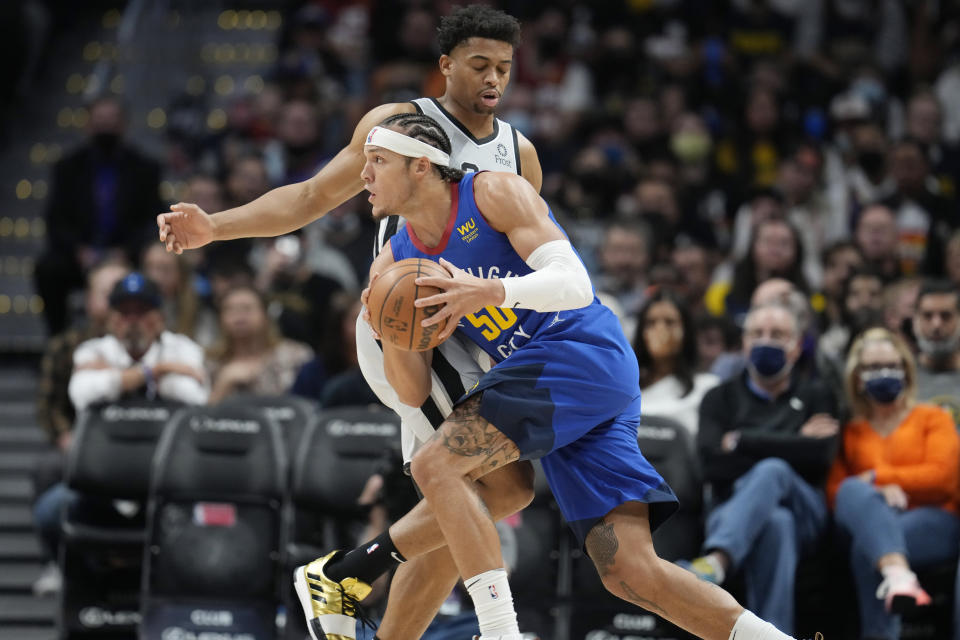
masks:
<svg viewBox="0 0 960 640"><path fill-rule="evenodd" d="M157 216L160 241L168 251L182 253L214 241L279 236L313 222L363 190L360 173L366 161L363 145L367 133L387 117L402 113L425 113L441 123L452 143L451 166L465 171L512 171L539 191L543 176L533 144L494 116L510 80L519 38L519 23L501 11L481 5L455 9L441 20L438 29L442 54L439 65L446 80L443 96L385 104L370 110L357 124L350 143L309 180L278 187L245 205L214 214L191 203L173 205L169 213ZM402 224L403 220L395 216L381 223L374 253ZM434 388L430 398L422 407L410 407L400 402L387 383L382 352L365 324L358 326L357 352L370 387L402 419L407 461L419 442L429 438L449 414L453 402L473 386L488 366L487 362L475 359L474 349L454 339L447 340L433 359ZM519 511L533 498L529 463L514 463L485 476L477 481L477 492L495 519ZM389 548L377 552L393 557ZM344 563L349 566L350 560L344 558ZM445 548L400 564L377 637L420 637L458 577ZM337 604L343 606L339 599ZM317 619L317 612L306 613L308 623ZM354 637L353 630L347 629L349 623L336 633L319 626L314 622L310 628L317 640Z"/></svg>

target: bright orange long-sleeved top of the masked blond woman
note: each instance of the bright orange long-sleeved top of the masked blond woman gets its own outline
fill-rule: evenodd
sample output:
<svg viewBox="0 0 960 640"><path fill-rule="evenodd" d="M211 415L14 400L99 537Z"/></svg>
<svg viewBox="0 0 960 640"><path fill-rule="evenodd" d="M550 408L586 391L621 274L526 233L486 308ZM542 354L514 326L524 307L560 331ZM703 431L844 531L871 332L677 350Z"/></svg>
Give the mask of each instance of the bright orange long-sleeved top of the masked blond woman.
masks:
<svg viewBox="0 0 960 640"><path fill-rule="evenodd" d="M866 420L851 420L841 451L827 480L831 507L844 479L874 469L874 483L899 485L909 496L910 507L939 506L957 513L960 436L943 409L917 405L887 437Z"/></svg>

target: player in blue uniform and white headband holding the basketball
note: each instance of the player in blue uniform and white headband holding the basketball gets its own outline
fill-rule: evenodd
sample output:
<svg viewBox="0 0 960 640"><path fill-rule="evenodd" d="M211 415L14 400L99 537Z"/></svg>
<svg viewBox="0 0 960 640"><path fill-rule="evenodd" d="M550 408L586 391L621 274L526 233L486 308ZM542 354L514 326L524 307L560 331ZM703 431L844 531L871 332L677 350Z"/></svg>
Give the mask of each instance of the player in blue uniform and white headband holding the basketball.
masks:
<svg viewBox="0 0 960 640"><path fill-rule="evenodd" d="M519 640L496 529L470 479L540 458L565 519L611 593L701 638L789 640L726 591L657 557L651 531L677 502L637 446L639 372L630 344L529 183L450 169L450 146L437 142L438 130L400 116L367 136L362 175L373 215L407 219L374 260L371 282L396 260L438 261L450 278L417 280L443 290L416 301L443 305L424 326L446 321L441 337L459 330L496 364L414 455L425 500L378 546L412 558L442 538L474 601L479 640ZM369 288L364 302L368 296ZM388 342L383 350L390 383L417 406L430 393L433 352ZM321 579L325 560L309 566L305 579ZM376 564L355 566L368 571ZM352 577L340 584L345 594L369 589Z"/></svg>

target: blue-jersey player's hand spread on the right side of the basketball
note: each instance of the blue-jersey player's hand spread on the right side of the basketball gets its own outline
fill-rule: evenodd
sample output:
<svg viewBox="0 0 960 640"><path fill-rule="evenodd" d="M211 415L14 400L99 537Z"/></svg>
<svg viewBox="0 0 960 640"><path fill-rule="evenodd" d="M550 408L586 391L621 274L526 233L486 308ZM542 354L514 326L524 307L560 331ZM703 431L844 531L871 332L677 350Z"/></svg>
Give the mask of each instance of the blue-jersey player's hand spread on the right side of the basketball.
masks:
<svg viewBox="0 0 960 640"><path fill-rule="evenodd" d="M472 276L444 258L440 258L440 266L447 270L450 274L449 278L422 276L417 278L416 282L421 286L441 289L442 293L419 298L414 304L418 307L443 305L439 311L420 323L424 327L429 327L446 318L447 326L440 332L440 340L443 341L457 330L460 318L466 314L474 313L483 307L497 307L503 304L503 285L495 278Z"/></svg>

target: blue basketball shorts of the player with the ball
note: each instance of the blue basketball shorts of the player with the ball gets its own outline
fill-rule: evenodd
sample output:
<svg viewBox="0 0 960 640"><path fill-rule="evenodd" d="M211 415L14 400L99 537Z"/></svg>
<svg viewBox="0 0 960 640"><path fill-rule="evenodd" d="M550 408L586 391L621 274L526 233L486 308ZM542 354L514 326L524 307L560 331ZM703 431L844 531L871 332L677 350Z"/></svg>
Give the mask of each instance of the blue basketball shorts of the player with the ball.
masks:
<svg viewBox="0 0 960 640"><path fill-rule="evenodd" d="M679 506L637 445L636 357L598 342L534 339L464 396L482 393L480 415L517 445L521 459L540 459L581 544L625 502L650 505L651 530Z"/></svg>

